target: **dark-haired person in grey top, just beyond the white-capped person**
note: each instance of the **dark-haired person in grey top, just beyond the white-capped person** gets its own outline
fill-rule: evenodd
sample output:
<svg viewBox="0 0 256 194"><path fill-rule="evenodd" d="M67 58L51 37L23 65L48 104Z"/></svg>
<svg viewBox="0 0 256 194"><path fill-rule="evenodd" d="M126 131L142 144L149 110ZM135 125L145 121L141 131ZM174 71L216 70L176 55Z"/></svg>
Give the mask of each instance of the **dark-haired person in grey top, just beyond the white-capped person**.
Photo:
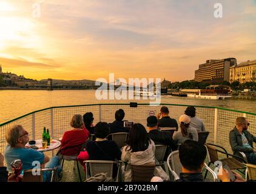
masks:
<svg viewBox="0 0 256 194"><path fill-rule="evenodd" d="M194 127L195 129L197 129L197 132L205 131L205 127L204 127L204 123L203 123L202 119L195 116L195 107L193 107L193 106L187 107L187 109L185 110L185 114L187 116L190 116L190 120L191 120L190 126L191 127Z"/></svg>

